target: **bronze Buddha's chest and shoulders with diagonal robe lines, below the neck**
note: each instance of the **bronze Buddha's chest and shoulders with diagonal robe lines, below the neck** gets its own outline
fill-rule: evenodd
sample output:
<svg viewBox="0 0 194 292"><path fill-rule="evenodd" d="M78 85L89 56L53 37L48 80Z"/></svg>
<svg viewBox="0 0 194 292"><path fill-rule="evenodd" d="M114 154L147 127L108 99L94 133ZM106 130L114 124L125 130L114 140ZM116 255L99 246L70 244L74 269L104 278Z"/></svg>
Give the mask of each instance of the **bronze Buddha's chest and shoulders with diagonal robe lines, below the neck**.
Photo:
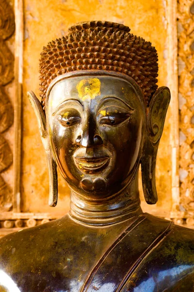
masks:
<svg viewBox="0 0 194 292"><path fill-rule="evenodd" d="M2 238L0 266L20 292L192 292L194 231L147 214L107 227L65 216Z"/></svg>

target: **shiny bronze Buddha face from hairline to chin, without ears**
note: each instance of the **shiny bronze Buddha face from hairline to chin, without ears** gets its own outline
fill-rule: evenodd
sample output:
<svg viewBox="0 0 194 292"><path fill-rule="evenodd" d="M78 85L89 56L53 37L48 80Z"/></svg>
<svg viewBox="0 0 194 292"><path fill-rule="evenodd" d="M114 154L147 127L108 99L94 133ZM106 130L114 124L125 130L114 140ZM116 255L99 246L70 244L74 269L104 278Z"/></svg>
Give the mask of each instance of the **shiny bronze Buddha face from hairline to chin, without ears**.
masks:
<svg viewBox="0 0 194 292"><path fill-rule="evenodd" d="M46 108L50 144L70 187L106 198L121 191L139 167L145 110L129 81L73 76L58 81Z"/></svg>

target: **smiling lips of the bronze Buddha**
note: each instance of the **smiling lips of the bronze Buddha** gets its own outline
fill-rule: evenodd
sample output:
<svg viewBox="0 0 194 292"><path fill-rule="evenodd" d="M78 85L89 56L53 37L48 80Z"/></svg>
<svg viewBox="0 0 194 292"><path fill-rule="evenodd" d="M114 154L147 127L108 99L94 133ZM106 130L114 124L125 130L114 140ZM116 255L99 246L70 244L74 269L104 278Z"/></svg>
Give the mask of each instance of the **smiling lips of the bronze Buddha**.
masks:
<svg viewBox="0 0 194 292"><path fill-rule="evenodd" d="M97 173L107 167L110 157L74 157L74 160L82 172Z"/></svg>

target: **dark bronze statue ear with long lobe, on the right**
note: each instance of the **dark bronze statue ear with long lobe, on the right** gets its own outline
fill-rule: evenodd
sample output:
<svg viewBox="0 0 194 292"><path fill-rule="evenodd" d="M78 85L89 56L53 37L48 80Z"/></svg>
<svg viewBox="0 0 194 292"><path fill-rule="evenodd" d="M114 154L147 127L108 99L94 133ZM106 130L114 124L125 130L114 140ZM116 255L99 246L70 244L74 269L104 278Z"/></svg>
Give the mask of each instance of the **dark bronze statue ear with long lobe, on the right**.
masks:
<svg viewBox="0 0 194 292"><path fill-rule="evenodd" d="M158 201L155 178L156 157L169 102L169 89L165 86L160 87L152 96L147 111L147 134L141 165L144 196L148 204L155 204Z"/></svg>

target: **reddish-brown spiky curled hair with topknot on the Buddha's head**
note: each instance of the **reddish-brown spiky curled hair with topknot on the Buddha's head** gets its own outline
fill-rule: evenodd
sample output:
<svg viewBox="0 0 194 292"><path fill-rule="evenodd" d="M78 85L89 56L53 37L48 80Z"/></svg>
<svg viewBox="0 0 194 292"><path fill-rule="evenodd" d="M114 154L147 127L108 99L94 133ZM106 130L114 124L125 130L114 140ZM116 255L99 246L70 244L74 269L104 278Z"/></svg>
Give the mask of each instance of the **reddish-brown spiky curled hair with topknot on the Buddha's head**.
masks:
<svg viewBox="0 0 194 292"><path fill-rule="evenodd" d="M39 63L40 96L58 75L78 70L108 70L132 77L141 87L146 105L157 89L158 55L150 42L129 33L128 26L109 21L80 22L65 37L43 48Z"/></svg>

